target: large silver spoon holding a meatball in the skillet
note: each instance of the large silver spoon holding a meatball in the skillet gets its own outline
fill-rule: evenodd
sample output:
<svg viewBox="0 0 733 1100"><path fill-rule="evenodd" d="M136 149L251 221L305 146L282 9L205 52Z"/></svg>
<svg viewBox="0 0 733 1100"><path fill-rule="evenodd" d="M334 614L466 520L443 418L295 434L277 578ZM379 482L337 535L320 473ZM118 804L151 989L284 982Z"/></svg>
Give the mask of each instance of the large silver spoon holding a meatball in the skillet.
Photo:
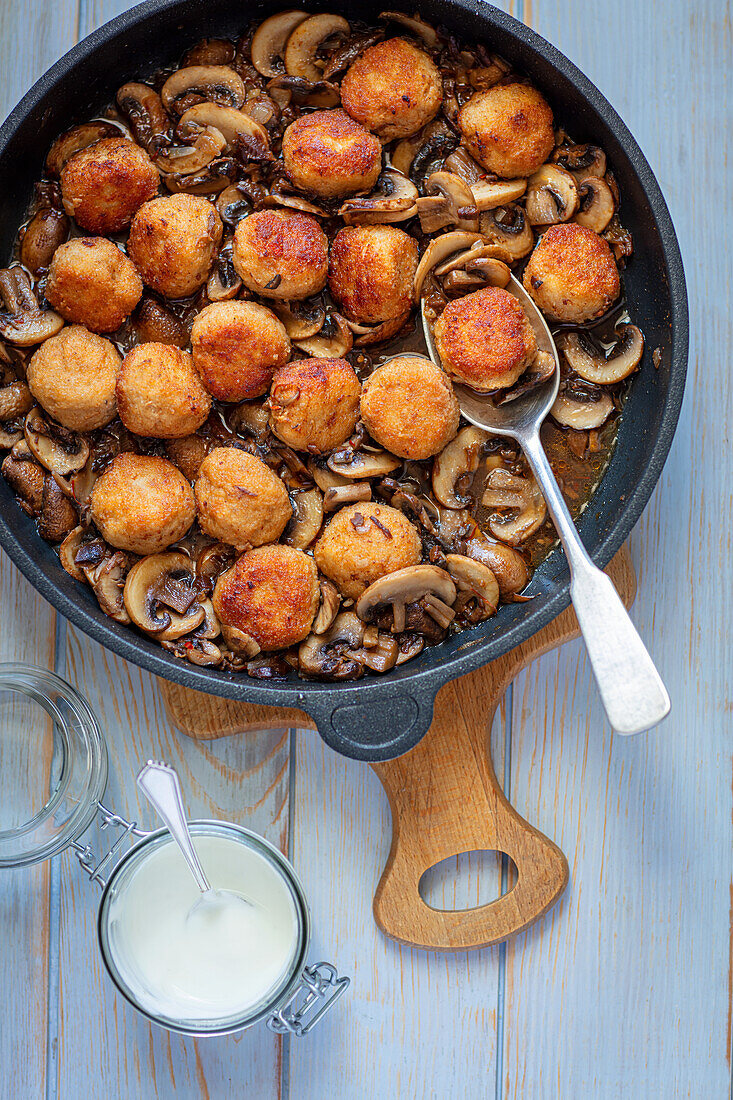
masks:
<svg viewBox="0 0 733 1100"><path fill-rule="evenodd" d="M506 289L529 318L539 351L553 355L555 373L547 382L504 405L494 405L489 396L461 385L456 385L456 396L467 420L484 431L516 440L524 451L570 564L570 598L609 722L620 734L638 734L669 714L669 695L613 582L593 564L582 544L547 461L539 428L558 394L560 361L545 318L522 284L512 276ZM420 305L425 342L430 359L439 366L425 298Z"/></svg>

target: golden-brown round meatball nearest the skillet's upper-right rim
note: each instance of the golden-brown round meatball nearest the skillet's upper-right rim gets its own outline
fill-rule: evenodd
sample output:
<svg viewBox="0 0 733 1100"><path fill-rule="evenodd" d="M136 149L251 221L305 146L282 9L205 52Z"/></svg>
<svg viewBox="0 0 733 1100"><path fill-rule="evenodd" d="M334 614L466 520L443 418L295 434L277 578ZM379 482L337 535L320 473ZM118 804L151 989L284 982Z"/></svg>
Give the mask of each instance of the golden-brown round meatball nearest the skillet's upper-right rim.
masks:
<svg viewBox="0 0 733 1100"><path fill-rule="evenodd" d="M553 111L528 84L497 84L477 91L458 114L469 152L505 179L530 176L555 147Z"/></svg>

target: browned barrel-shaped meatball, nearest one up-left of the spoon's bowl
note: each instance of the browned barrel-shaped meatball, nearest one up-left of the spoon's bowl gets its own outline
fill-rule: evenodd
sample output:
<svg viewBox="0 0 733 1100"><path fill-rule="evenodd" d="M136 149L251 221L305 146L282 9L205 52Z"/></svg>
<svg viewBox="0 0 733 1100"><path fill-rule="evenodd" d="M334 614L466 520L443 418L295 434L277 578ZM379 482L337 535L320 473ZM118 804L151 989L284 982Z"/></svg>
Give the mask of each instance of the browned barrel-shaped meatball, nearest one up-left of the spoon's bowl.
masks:
<svg viewBox="0 0 733 1100"><path fill-rule="evenodd" d="M376 324L412 308L417 241L394 226L347 226L331 244L328 288L352 321Z"/></svg>

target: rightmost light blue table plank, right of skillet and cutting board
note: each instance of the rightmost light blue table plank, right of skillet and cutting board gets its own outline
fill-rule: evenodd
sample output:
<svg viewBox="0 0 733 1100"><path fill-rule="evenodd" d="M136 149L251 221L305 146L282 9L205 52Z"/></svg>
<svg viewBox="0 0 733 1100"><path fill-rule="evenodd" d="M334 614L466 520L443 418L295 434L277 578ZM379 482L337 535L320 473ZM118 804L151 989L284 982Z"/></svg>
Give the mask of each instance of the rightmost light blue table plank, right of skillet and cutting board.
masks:
<svg viewBox="0 0 733 1100"><path fill-rule="evenodd" d="M712 0L534 0L534 25L647 153L687 261L692 348L672 453L632 538L633 618L672 697L612 738L580 644L515 688L512 795L568 855L548 922L507 948L504 1094L723 1097L730 1084L730 13ZM690 186L690 182L694 185ZM690 532L688 536L688 531Z"/></svg>

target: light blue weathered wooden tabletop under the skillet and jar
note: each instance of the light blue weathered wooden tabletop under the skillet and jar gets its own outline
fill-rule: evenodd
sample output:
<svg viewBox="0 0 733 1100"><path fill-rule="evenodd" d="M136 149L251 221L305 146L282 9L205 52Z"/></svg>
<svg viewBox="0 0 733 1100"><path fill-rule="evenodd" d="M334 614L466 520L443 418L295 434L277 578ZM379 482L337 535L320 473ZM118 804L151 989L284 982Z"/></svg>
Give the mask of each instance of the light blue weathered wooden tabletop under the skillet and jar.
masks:
<svg viewBox="0 0 733 1100"><path fill-rule="evenodd" d="M0 108L125 0L0 0ZM96 898L68 857L0 880L0 1097L668 1098L731 1084L731 13L720 0L503 4L571 57L619 109L677 226L691 306L682 417L631 548L633 617L672 696L653 734L612 738L579 642L522 675L494 729L519 812L567 853L571 881L508 946L436 956L378 933L371 897L389 810L363 766L315 735L194 744L151 678L67 627L0 558L0 659L65 674L110 745L109 800L150 821L133 774L179 769L197 815L289 850L310 895L314 956L352 975L308 1040L264 1030L207 1042L151 1028L113 996L95 950ZM242 9L245 22L245 7ZM504 754L506 749L506 754ZM12 796L3 780L0 798ZM477 904L495 865L436 875Z"/></svg>

